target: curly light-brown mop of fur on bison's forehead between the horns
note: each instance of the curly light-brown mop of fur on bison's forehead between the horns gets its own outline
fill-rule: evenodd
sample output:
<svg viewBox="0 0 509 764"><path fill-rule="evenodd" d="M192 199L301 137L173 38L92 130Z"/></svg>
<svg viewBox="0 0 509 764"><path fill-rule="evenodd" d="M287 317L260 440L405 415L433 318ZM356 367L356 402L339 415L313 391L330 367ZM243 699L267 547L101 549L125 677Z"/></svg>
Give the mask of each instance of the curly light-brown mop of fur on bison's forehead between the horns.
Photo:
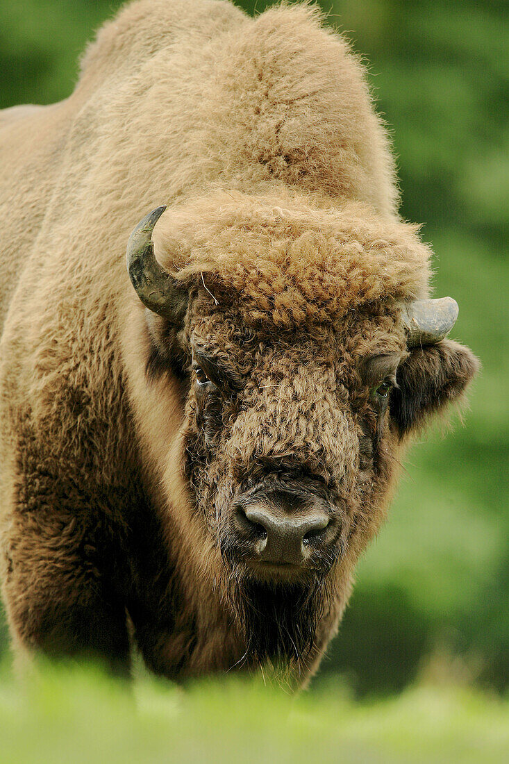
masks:
<svg viewBox="0 0 509 764"><path fill-rule="evenodd" d="M154 239L180 282L209 274L214 296L245 322L283 327L426 296L429 250L417 230L355 202L216 193L169 210Z"/></svg>

